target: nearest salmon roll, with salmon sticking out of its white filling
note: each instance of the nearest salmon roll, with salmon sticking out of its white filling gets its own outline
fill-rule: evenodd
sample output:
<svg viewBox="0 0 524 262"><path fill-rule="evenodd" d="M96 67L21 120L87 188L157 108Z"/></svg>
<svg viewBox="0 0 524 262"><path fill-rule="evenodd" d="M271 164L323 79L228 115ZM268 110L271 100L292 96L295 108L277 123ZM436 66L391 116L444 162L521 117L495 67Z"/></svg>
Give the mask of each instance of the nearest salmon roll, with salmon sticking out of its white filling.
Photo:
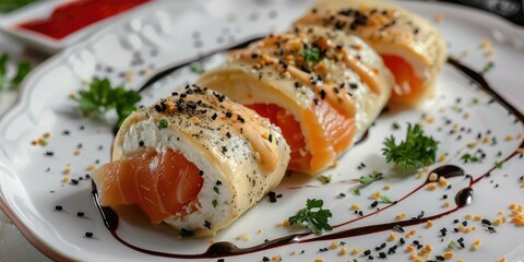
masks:
<svg viewBox="0 0 524 262"><path fill-rule="evenodd" d="M289 146L275 126L207 88L141 108L122 123L112 162L94 175L102 205L138 205L153 223L215 235L282 180Z"/></svg>

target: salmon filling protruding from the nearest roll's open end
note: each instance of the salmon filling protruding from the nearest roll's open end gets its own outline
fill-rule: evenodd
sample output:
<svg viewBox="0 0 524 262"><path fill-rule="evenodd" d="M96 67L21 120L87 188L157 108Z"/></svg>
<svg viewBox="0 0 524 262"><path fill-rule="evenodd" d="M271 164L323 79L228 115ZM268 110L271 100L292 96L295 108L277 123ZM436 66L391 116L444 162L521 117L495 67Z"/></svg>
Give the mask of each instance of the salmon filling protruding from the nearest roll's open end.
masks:
<svg viewBox="0 0 524 262"><path fill-rule="evenodd" d="M139 150L106 164L98 181L105 206L136 204L153 223L193 213L204 179L196 166L172 150Z"/></svg>

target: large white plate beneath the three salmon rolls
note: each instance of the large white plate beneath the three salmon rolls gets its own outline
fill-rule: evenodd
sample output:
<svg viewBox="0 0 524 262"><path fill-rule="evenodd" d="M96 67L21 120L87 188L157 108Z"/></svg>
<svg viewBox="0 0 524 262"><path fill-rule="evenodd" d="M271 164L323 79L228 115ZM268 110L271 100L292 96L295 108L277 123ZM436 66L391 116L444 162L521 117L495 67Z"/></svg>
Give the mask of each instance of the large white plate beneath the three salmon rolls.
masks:
<svg viewBox="0 0 524 262"><path fill-rule="evenodd" d="M310 1L297 0L165 2L159 7L147 7L146 12L119 21L88 40L47 61L25 82L21 102L0 121L0 205L26 237L53 259L172 260L138 252L118 242L104 226L93 204L91 181L84 179L76 186L62 182L64 177L79 178L88 174L86 168L97 160L100 164L109 160L112 140L111 117L108 122L82 118L75 103L68 98L69 95L85 88L83 81L94 75L110 78L114 83L124 83L128 87L138 86L152 70L194 58L207 50L226 47L229 41L235 43L275 29L283 31L308 8L309 3ZM479 47L480 40L491 38L496 50L496 67L488 73L488 80L495 88L511 94L510 100L524 99L522 91L519 91L521 71L524 67L522 31L499 19L454 5L415 2L401 4L429 20L437 13L444 14L444 21L438 24L438 27L450 43L450 53L460 56L464 50L468 50L468 56L463 60L478 70L487 62ZM477 21L483 23L477 24ZM212 67L211 64L216 62L212 60L205 67ZM177 85L195 78L196 75L189 69L183 69L166 81L169 84L159 83L147 90L141 103L147 105L169 94ZM140 213L129 210L121 217L118 235L144 249L166 253L201 253L207 249L211 241L231 241L239 247L250 247L262 243L264 239L297 233L297 229L276 225L301 209L307 199L323 199L324 206L333 212L331 219L333 225L357 217L350 211L352 204L359 204L364 213L369 214L373 212L373 209L370 209L372 200L368 199L371 193L380 191L392 200L397 200L424 182L424 178L417 178L416 174L402 176L391 170L391 166L384 163L380 153L385 136L391 134L397 139L403 136L405 122L424 122L426 131L440 141L439 156L448 154L443 162L437 163L430 169L451 163L462 166L473 177L479 177L491 169L496 162L519 147L522 139L515 138L524 132L524 128L523 123L514 121L514 116L508 115L507 109L498 103L489 103L490 96L471 86L468 82L464 75L445 66L438 80L438 95L418 110L382 116L371 128L369 138L364 143L341 157L336 168L324 172L332 176L331 183L323 186L315 179L293 175L275 190L283 194L276 203L270 203L267 199L262 200L234 225L213 238L175 238L169 230L165 230L165 227L151 226ZM461 98L460 102L457 98ZM472 103L474 99L478 103ZM522 105L520 109L523 110ZM426 119L434 121L424 120L422 115ZM451 123L446 124L446 120ZM393 122L400 123L402 129L393 130ZM457 130L450 134L455 123ZM64 130L70 133L64 135ZM51 134L47 146L31 144L31 141L41 138L46 132ZM490 145L480 141L479 146L486 154L483 163L462 164L460 156L476 150L469 150L466 145L477 141L478 132L483 138L497 138L498 143ZM514 139L507 141L508 135ZM74 155L79 144L82 144L81 154ZM46 156L46 152L53 152L55 155ZM366 167L358 168L360 163L365 163ZM521 245L524 228L513 224L502 224L496 227L496 234L489 234L480 222L471 219L467 226L475 226L476 230L469 234L452 233L454 227L458 227L453 221L460 219L462 223L466 214L481 215L493 221L500 217L499 211L509 214L511 203L523 204L524 189L520 183L523 163L524 159L516 156L504 163L502 168L496 168L488 179L483 179L474 186L475 198L471 205L436 219L432 227L427 228L425 225L406 227L407 230L416 230L409 239L404 237L407 243L418 240L422 245L432 245L430 259L434 259L434 255L446 251L445 247L451 240L456 242L463 237L466 248L453 250L453 260L495 261L505 257L511 261L523 258L524 248ZM62 174L67 167L72 170L70 175ZM373 169L382 171L385 179L361 189L360 196L354 195L352 192L357 186L345 181L368 175ZM427 175L422 172L422 176ZM453 196L460 189L466 187L467 180L453 178L450 182L453 184L452 189L439 188L434 191L421 189L377 215L356 221L346 227L335 228L324 235L347 228L391 223L394 222L395 215L401 213L405 213L405 219L409 219L419 215L420 211L425 211L427 217L451 210L454 207ZM391 189L384 190L385 184ZM340 193L346 196L340 198ZM448 200L443 200L444 194L448 195ZM442 207L446 201L451 206ZM63 206L63 211L55 211L56 205ZM84 212L85 217L76 217L76 212ZM443 227L448 228L449 233L445 237L439 237L439 230ZM94 237L84 237L86 231L93 233ZM386 252L390 247L397 245L401 236L398 233L395 233L397 235L395 241L386 241L391 233L386 230L336 241L344 241L349 251L357 247L362 250L370 249L378 259L374 247L385 242L388 248L382 251ZM248 236L250 240L239 239L238 237L242 235ZM472 243L477 238L481 239L483 243L477 251L472 251ZM317 258L323 258L325 261L366 260L362 252L358 255L340 255L341 247L331 249L331 243L332 240L295 243L246 255L228 257L225 260L261 261L263 257L274 255L282 255L283 261L312 261ZM396 254L388 258L393 261L406 261L409 257L409 253L405 252L406 247L407 245L400 247ZM327 251L320 252L319 249L322 248L327 248Z"/></svg>

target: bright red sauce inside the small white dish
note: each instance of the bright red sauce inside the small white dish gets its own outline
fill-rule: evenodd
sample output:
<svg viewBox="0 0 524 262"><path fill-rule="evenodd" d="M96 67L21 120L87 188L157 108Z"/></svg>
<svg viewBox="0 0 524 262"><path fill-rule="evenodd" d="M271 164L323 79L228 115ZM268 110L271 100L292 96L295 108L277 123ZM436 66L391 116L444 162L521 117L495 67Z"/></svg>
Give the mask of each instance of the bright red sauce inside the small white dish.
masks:
<svg viewBox="0 0 524 262"><path fill-rule="evenodd" d="M47 19L19 24L19 28L36 32L53 39L63 37L100 20L117 15L150 0L76 0L55 9Z"/></svg>

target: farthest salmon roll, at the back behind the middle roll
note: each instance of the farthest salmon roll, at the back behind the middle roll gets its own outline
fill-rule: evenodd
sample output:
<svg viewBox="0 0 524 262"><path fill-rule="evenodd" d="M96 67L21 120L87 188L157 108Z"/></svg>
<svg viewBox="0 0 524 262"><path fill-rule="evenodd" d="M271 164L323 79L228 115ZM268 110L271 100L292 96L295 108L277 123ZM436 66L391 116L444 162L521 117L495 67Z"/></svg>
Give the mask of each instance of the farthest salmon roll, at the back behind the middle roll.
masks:
<svg viewBox="0 0 524 262"><path fill-rule="evenodd" d="M395 76L391 103L416 106L433 93L446 58L444 41L429 22L379 0L320 0L295 26L321 25L354 34L373 47Z"/></svg>

